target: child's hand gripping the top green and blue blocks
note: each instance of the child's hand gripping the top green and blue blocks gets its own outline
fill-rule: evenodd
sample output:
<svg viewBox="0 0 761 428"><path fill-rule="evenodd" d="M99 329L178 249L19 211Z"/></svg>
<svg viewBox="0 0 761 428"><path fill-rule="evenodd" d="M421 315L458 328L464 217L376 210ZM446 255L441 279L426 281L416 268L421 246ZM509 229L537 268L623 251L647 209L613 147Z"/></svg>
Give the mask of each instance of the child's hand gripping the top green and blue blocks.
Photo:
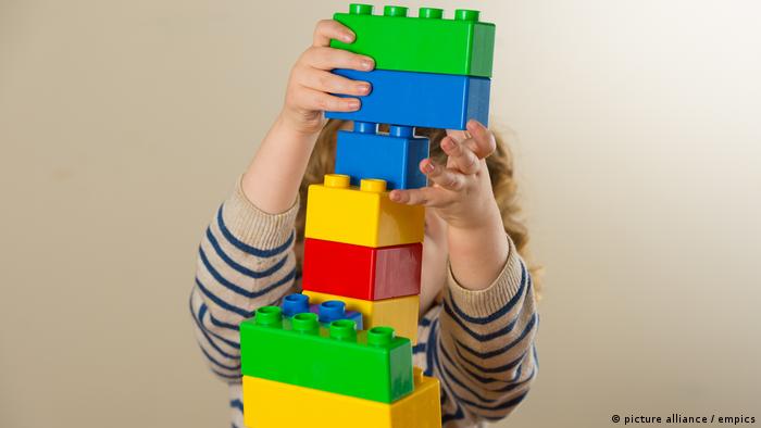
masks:
<svg viewBox="0 0 761 428"><path fill-rule="evenodd" d="M330 73L334 68L369 72L375 67L372 58L330 48L330 39L352 42L354 34L333 20L320 21L314 28L314 40L296 61L288 79L285 104L280 113L284 124L300 134L313 135L325 124L324 111L351 112L359 110L360 100L330 93L365 96L371 87L366 81L351 80Z"/></svg>

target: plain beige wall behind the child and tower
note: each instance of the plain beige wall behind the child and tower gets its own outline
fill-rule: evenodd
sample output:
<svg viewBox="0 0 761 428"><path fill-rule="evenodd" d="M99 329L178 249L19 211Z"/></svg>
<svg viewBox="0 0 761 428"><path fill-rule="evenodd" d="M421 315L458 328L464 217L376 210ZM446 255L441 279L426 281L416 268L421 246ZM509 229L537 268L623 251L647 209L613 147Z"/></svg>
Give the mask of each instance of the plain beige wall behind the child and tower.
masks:
<svg viewBox="0 0 761 428"><path fill-rule="evenodd" d="M196 244L347 2L0 0L0 426L228 426ZM761 418L760 3L463 5L498 24L548 273L540 377L499 426Z"/></svg>

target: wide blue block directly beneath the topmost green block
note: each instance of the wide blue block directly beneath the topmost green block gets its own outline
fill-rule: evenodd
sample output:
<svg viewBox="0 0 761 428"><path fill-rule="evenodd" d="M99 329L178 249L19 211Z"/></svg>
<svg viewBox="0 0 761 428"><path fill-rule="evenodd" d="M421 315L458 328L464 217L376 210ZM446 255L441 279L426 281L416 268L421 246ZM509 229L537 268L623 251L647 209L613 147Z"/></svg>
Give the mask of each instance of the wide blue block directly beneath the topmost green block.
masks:
<svg viewBox="0 0 761 428"><path fill-rule="evenodd" d="M488 78L388 70L333 72L370 81L373 89L360 97L359 111L326 112L328 118L441 129L465 129L467 121L475 118L488 126Z"/></svg>

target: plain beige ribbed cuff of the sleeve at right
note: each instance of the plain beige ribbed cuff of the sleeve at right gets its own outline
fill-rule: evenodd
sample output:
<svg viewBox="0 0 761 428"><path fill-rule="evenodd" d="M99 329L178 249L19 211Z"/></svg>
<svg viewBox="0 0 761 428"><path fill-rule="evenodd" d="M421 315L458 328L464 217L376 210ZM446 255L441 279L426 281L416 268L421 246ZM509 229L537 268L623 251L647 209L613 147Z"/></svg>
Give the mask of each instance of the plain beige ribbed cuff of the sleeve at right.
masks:
<svg viewBox="0 0 761 428"><path fill-rule="evenodd" d="M487 317L504 307L521 289L524 267L515 244L508 237L510 253L497 278L483 290L469 290L462 287L454 275L452 266L447 261L447 285L452 301L467 315ZM527 275L527 273L525 273Z"/></svg>

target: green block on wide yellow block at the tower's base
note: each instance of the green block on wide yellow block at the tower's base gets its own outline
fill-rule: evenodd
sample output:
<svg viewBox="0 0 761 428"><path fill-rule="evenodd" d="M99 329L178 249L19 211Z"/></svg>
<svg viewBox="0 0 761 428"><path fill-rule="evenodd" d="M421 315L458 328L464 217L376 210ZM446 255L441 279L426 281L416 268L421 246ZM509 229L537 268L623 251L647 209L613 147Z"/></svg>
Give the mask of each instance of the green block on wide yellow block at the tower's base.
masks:
<svg viewBox="0 0 761 428"><path fill-rule="evenodd" d="M439 382L412 367L409 339L358 331L348 313L328 326L312 311L288 316L303 311L295 295L240 324L247 427L441 426Z"/></svg>

